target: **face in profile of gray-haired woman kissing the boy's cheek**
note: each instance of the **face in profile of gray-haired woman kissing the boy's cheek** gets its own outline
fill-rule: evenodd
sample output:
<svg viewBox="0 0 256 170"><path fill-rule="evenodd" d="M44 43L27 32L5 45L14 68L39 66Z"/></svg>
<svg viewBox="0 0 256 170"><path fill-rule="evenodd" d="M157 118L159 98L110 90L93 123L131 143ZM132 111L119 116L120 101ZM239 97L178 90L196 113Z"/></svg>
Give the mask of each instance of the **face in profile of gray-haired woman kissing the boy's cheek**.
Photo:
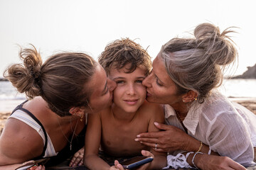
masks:
<svg viewBox="0 0 256 170"><path fill-rule="evenodd" d="M176 105L181 101L178 96L176 84L169 77L164 66L164 62L160 59L160 53L153 62L153 69L146 79L142 82L146 86L146 100L152 103Z"/></svg>

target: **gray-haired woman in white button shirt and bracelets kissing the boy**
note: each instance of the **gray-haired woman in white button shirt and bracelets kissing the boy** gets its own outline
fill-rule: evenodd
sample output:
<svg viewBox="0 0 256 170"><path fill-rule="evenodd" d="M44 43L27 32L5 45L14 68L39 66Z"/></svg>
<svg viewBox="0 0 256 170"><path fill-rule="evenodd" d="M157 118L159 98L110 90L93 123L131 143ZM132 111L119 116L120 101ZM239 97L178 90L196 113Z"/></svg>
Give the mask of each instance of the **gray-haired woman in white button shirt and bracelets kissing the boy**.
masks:
<svg viewBox="0 0 256 170"><path fill-rule="evenodd" d="M203 23L194 30L195 38L171 39L143 81L146 100L164 104L168 125L155 123L165 131L136 140L169 152L169 166L244 169L240 164L255 164L256 115L216 90L225 66L237 58L230 32Z"/></svg>

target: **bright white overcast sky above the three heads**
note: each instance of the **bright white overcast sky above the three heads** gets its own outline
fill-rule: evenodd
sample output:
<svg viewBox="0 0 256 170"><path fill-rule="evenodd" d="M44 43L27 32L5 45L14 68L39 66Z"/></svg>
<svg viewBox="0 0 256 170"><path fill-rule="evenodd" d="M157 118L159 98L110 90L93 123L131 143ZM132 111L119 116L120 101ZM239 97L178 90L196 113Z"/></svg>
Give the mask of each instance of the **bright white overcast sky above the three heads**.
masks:
<svg viewBox="0 0 256 170"><path fill-rule="evenodd" d="M43 61L56 52L85 52L97 60L105 46L130 38L152 60L171 38L188 36L200 23L235 26L242 74L256 64L254 0L0 0L0 77L33 44Z"/></svg>

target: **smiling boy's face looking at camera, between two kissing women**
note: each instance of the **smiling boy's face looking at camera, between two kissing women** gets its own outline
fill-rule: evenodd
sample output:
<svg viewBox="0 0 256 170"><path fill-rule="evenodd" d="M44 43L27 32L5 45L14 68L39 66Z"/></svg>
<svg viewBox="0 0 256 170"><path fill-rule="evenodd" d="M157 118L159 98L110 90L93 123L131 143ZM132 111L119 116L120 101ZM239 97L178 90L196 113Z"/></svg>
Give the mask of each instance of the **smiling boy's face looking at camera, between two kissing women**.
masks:
<svg viewBox="0 0 256 170"><path fill-rule="evenodd" d="M129 66L129 65L128 65ZM146 88L142 85L145 70L137 67L132 73L127 72L127 65L122 69L110 69L110 79L117 83L114 89L114 104L127 113L134 113L144 103Z"/></svg>

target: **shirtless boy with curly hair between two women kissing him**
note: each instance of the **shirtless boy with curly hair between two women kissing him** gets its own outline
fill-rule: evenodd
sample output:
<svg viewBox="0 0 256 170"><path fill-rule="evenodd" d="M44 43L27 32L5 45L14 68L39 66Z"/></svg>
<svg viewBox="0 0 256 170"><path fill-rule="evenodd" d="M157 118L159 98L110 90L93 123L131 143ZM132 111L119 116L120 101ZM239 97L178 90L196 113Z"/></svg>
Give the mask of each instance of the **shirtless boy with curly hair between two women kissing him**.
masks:
<svg viewBox="0 0 256 170"><path fill-rule="evenodd" d="M154 154L153 162L139 168L164 168L165 153L155 152L154 149L134 141L141 132L159 131L154 122L164 123L163 108L145 100L146 88L142 81L151 69L151 58L146 50L127 38L107 45L99 62L108 77L117 83L117 87L113 92L112 106L89 115L85 137L85 165L89 169L110 169L110 165L98 156L100 147L105 156L114 159ZM116 162L115 164L117 165Z"/></svg>

